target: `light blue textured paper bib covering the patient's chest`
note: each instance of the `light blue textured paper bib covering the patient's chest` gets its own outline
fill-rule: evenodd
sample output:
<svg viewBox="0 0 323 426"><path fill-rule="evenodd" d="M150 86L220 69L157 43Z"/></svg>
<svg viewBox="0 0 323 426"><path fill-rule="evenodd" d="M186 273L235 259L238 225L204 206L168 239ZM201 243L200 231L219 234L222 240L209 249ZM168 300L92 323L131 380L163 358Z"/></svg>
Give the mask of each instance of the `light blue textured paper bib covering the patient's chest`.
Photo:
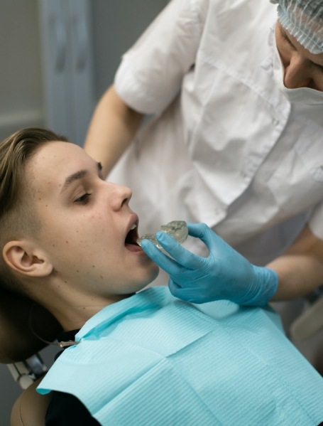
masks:
<svg viewBox="0 0 323 426"><path fill-rule="evenodd" d="M150 288L87 321L38 392L75 395L102 425L318 425L323 379L276 320Z"/></svg>

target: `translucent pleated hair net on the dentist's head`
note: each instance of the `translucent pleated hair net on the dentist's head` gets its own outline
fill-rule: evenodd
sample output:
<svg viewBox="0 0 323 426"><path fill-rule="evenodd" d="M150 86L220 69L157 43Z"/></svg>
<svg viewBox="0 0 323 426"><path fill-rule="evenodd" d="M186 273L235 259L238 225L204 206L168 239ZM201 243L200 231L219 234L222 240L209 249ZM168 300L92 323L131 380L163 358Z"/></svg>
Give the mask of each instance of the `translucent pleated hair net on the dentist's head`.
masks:
<svg viewBox="0 0 323 426"><path fill-rule="evenodd" d="M282 26L311 53L323 53L323 0L270 0Z"/></svg>

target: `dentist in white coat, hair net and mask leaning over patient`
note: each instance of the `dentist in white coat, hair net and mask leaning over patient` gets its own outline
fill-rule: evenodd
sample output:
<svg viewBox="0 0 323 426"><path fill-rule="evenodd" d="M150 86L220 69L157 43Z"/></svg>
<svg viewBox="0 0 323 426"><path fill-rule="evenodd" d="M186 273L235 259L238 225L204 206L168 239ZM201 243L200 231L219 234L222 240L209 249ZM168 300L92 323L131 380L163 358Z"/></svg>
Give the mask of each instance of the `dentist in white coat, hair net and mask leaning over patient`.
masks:
<svg viewBox="0 0 323 426"><path fill-rule="evenodd" d="M323 1L271 3L170 1L89 127L85 149L131 185L143 230L207 225L190 226L195 255L161 237L171 267L143 245L183 299L265 304L323 282ZM206 263L213 277L194 292L176 272L192 256L195 284Z"/></svg>

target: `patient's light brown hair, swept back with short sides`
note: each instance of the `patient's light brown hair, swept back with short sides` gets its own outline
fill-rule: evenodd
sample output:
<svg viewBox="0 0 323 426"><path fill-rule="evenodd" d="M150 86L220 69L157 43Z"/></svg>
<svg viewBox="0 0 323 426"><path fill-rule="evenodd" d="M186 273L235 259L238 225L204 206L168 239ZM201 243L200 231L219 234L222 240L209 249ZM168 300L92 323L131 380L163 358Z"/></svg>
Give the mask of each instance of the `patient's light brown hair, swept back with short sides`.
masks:
<svg viewBox="0 0 323 426"><path fill-rule="evenodd" d="M4 262L4 245L26 235L37 235L40 220L33 209L28 191L31 178L26 165L45 143L68 142L48 129L31 127L18 130L0 142L0 285L14 292L23 292L19 280Z"/></svg>

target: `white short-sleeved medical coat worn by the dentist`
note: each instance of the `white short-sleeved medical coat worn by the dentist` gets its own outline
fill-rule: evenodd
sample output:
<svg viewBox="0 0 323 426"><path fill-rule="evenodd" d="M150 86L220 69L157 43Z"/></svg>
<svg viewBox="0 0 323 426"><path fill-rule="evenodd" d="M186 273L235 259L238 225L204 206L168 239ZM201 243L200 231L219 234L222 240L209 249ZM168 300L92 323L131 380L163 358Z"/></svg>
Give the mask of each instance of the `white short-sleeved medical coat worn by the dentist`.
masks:
<svg viewBox="0 0 323 426"><path fill-rule="evenodd" d="M323 105L275 86L276 20L268 0L173 0L124 55L116 92L155 118L109 180L141 233L204 222L259 265L305 223L323 239Z"/></svg>

